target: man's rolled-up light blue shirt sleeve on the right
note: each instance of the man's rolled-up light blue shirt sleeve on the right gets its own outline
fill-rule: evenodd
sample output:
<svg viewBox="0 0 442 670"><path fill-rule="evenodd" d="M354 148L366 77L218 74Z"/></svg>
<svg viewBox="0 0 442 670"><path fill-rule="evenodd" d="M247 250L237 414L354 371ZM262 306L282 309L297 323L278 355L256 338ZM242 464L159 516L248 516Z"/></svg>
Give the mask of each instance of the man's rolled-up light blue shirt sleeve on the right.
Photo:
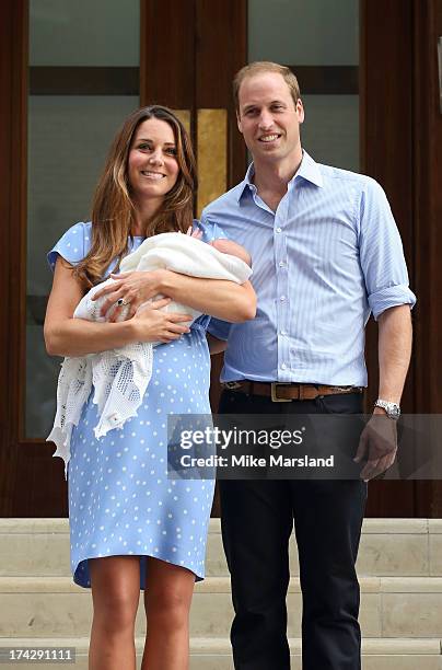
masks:
<svg viewBox="0 0 442 670"><path fill-rule="evenodd" d="M368 180L359 210L359 253L374 319L392 307L416 304L403 243L383 188Z"/></svg>

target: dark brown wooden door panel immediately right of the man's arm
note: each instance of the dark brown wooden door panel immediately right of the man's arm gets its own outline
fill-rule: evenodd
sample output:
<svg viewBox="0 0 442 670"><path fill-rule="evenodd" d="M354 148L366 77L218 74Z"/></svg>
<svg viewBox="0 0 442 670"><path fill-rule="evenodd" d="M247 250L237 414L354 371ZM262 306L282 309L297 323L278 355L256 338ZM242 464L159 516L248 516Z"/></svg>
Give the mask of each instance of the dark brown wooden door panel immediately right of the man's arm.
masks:
<svg viewBox="0 0 442 670"><path fill-rule="evenodd" d="M412 26L411 2L396 1L381 5L362 3L363 80L361 81L363 127L361 153L363 172L384 187L404 243L414 284L412 246ZM380 25L385 30L379 33ZM377 33L377 35L376 35ZM398 34L400 39L392 39ZM380 68L380 62L388 63ZM382 104L375 101L383 101ZM370 373L368 407L377 392L377 327L371 321L367 336L367 360ZM403 397L404 412L414 412L412 358ZM412 517L415 482L372 482L368 515Z"/></svg>

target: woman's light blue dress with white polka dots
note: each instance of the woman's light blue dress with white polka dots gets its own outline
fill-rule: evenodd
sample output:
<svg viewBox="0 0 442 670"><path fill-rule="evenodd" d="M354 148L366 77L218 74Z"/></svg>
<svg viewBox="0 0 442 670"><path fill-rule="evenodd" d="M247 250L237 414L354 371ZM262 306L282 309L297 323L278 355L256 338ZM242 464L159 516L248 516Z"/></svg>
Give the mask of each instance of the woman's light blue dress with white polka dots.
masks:
<svg viewBox="0 0 442 670"><path fill-rule="evenodd" d="M198 223L203 240L224 238L216 226ZM91 223L77 223L48 255L54 268L61 255L74 264L88 253ZM135 238L136 249L143 238ZM89 558L140 556L140 589L146 557L205 576L206 540L213 499L212 480L167 478L167 415L210 414L209 317L190 333L154 348L153 374L138 416L123 429L96 439L97 408L92 395L72 431L68 466L71 569L90 587Z"/></svg>

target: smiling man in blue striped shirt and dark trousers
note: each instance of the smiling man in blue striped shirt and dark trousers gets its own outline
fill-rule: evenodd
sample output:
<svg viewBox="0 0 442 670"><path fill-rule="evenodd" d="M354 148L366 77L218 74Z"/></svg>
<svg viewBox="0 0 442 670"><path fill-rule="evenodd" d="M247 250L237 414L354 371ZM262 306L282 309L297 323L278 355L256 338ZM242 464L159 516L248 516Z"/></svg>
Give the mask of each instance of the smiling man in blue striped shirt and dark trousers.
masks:
<svg viewBox="0 0 442 670"><path fill-rule="evenodd" d="M358 413L367 385L364 326L379 322L379 403L357 459L361 481L222 481L236 670L287 670L288 543L296 533L304 670L360 668L354 570L367 481L394 461L395 418L411 348L400 238L370 177L319 165L302 150L304 109L288 68L257 62L234 80L237 125L253 157L245 180L202 213L252 254L257 315L212 320L226 344L220 412ZM276 384L275 382L282 382ZM278 402L278 401L291 402ZM376 437L387 415L389 438ZM386 419L384 419L385 423Z"/></svg>

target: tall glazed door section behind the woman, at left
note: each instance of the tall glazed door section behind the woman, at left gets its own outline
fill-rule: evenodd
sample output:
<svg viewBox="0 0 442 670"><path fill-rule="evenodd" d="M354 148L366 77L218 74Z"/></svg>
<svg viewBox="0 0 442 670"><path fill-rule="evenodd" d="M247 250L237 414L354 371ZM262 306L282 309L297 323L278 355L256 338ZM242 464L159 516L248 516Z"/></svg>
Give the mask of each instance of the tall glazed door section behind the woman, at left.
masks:
<svg viewBox="0 0 442 670"><path fill-rule="evenodd" d="M112 138L139 106L138 94L118 95L113 85L113 68L139 67L139 0L31 0L30 66L45 70L53 90L57 78L62 83L62 94L48 95L38 90L37 77L28 99L25 437L45 438L60 363L47 356L43 339L51 286L46 253L71 224L89 220ZM65 72L65 66L80 68L85 83L90 67L103 68L109 94L66 94L72 70Z"/></svg>

